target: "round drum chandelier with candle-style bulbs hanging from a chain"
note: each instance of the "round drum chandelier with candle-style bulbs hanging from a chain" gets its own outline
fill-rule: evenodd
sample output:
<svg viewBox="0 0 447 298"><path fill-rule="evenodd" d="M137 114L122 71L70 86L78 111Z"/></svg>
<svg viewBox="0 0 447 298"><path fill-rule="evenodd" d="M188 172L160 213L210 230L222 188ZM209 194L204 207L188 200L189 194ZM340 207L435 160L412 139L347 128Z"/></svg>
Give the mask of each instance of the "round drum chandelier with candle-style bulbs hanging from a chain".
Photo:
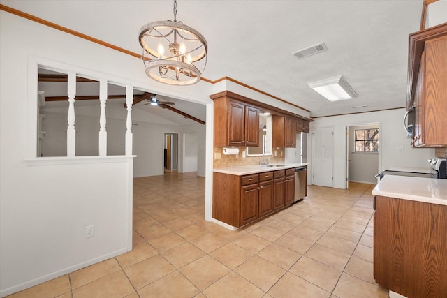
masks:
<svg viewBox="0 0 447 298"><path fill-rule="evenodd" d="M138 40L146 75L152 79L174 85L200 81L207 61L207 41L195 29L177 22L177 0L174 0L174 21L145 24Z"/></svg>

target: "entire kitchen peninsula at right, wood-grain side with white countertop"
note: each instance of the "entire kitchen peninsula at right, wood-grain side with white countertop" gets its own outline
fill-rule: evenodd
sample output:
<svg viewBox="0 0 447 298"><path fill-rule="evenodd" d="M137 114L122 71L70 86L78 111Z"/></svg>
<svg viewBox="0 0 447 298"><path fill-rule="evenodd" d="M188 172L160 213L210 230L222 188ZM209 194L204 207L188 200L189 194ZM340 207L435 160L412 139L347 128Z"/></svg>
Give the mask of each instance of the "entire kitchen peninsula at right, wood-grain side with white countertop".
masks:
<svg viewBox="0 0 447 298"><path fill-rule="evenodd" d="M372 194L376 283L390 297L445 297L447 180L386 175Z"/></svg>

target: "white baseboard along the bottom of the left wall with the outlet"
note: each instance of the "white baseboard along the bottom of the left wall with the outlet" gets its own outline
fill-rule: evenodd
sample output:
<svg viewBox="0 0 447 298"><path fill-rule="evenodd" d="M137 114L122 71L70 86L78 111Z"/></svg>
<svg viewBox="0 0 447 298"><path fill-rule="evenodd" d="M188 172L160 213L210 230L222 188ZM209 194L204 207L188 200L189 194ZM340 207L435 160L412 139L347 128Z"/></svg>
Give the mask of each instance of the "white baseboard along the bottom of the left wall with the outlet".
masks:
<svg viewBox="0 0 447 298"><path fill-rule="evenodd" d="M45 281L51 281L54 278L58 278L65 274L69 274L73 271L88 267L90 265L94 265L98 262L102 262L103 260L107 260L107 259L116 257L117 255L121 255L122 253L126 253L127 251L128 251L127 248L121 248L118 251L114 251L114 252L108 253L106 255L101 255L98 258L94 258L94 259L88 260L86 262L82 262L78 265L67 267L67 268L61 269L59 271L54 271L50 274L46 274L44 276L31 279L31 281L26 281L24 283L14 285L13 287L6 288L4 290L0 290L0 297L6 297L8 295L14 294L15 292L20 292L22 290L26 290L27 288L34 287L34 285L39 285L41 283L45 283Z"/></svg>

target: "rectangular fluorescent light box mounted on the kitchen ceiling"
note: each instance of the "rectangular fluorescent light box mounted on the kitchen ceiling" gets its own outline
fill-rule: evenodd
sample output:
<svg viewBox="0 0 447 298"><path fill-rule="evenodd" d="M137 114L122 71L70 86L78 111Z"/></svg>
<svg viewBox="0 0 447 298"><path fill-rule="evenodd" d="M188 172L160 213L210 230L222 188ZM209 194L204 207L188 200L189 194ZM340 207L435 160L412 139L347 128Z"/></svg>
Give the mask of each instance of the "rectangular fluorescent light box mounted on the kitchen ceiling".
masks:
<svg viewBox="0 0 447 298"><path fill-rule="evenodd" d="M308 83L307 86L330 101L351 99L357 96L356 91L349 86L342 75Z"/></svg>

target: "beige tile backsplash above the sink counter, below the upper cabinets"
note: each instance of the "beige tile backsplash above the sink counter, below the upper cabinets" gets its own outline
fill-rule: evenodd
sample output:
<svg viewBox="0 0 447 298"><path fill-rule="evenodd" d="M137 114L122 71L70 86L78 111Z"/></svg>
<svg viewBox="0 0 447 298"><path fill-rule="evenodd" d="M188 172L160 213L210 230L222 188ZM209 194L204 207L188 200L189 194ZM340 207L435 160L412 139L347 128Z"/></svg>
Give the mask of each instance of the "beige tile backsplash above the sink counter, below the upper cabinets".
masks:
<svg viewBox="0 0 447 298"><path fill-rule="evenodd" d="M239 154L225 155L223 154L223 147L214 147L213 167L218 169L221 167L240 167L242 165L259 165L263 160L263 156L245 156L242 157L242 152L246 151L247 147L238 147ZM264 160L268 160L268 163L284 163L285 151L284 148L277 148L277 156L264 156Z"/></svg>

